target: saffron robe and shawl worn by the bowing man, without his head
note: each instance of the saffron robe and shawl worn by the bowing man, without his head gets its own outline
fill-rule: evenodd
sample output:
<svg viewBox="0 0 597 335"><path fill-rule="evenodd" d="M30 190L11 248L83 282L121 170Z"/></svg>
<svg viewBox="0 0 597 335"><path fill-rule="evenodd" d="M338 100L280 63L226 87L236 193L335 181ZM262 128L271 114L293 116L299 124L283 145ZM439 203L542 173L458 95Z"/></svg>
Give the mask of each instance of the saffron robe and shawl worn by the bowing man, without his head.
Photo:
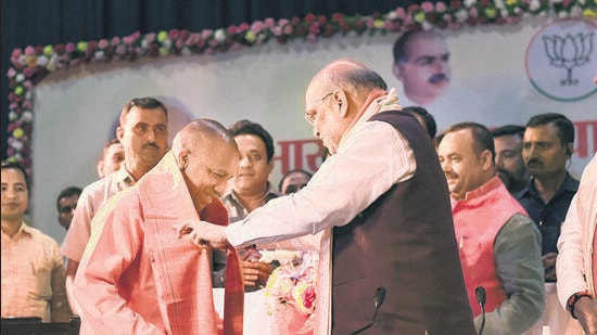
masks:
<svg viewBox="0 0 597 335"><path fill-rule="evenodd" d="M208 250L198 248L188 235L178 239L174 228L198 219L172 153L136 186L107 201L92 221L91 240L75 279L82 333L217 334ZM201 219L227 224L228 214L216 199ZM231 275L237 280L230 280L230 286L227 281L226 288L230 288L227 295L240 293L240 314L228 315L225 310L225 319L233 323L242 322L236 260L228 268L238 271ZM227 334L239 331L242 325Z"/></svg>

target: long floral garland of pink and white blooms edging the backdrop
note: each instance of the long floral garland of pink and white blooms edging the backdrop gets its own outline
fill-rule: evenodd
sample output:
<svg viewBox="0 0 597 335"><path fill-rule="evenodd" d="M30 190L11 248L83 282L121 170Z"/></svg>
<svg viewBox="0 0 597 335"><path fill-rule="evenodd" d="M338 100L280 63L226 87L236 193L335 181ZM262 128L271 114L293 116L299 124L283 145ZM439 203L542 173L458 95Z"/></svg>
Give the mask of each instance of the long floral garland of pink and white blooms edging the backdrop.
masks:
<svg viewBox="0 0 597 335"><path fill-rule="evenodd" d="M15 49L9 77L8 150L10 160L21 162L30 175L33 90L49 73L79 63L130 61L139 57L214 54L243 47L265 44L271 40L285 43L294 39L316 42L336 34L373 36L399 33L410 28L460 29L478 24L517 24L524 16L597 18L597 0L453 0L422 2L397 8L385 15L333 14L331 17L308 14L303 18L266 18L252 24L201 33L173 29L114 37L99 41Z"/></svg>

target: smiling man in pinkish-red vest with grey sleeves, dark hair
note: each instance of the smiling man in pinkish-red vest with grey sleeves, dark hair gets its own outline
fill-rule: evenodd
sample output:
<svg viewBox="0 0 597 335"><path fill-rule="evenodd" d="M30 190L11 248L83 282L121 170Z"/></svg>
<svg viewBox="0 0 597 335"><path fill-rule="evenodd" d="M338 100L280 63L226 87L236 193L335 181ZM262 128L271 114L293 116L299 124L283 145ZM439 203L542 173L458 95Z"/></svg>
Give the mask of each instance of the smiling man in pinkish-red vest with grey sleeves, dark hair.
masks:
<svg viewBox="0 0 597 335"><path fill-rule="evenodd" d="M437 147L477 328L521 334L541 317L544 275L541 234L495 169L493 138L483 125L460 123ZM477 287L486 292L482 314Z"/></svg>

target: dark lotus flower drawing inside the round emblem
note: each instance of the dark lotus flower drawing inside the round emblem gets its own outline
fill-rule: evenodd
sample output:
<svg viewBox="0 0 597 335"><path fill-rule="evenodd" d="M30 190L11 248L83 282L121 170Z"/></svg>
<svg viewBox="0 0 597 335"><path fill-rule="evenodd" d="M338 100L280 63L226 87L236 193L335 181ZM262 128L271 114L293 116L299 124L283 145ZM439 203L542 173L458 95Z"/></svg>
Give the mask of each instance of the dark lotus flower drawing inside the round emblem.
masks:
<svg viewBox="0 0 597 335"><path fill-rule="evenodd" d="M572 70L589 63L594 35L594 33L579 33L575 36L567 34L564 37L543 36L549 65L564 68L567 72L566 79L560 80L561 86L579 85L579 79L572 77Z"/></svg>

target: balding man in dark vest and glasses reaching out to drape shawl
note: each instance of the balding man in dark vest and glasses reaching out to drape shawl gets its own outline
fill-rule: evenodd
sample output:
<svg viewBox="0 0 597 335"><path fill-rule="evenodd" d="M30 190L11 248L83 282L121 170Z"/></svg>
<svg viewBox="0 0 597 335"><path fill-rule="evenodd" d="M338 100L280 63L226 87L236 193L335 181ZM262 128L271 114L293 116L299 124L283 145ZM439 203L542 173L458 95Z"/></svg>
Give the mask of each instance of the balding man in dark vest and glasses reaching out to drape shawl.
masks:
<svg viewBox="0 0 597 335"><path fill-rule="evenodd" d="M309 183L227 228L188 226L215 246L322 231L315 334L477 334L435 150L385 88L355 60L323 67L305 118L331 155Z"/></svg>

